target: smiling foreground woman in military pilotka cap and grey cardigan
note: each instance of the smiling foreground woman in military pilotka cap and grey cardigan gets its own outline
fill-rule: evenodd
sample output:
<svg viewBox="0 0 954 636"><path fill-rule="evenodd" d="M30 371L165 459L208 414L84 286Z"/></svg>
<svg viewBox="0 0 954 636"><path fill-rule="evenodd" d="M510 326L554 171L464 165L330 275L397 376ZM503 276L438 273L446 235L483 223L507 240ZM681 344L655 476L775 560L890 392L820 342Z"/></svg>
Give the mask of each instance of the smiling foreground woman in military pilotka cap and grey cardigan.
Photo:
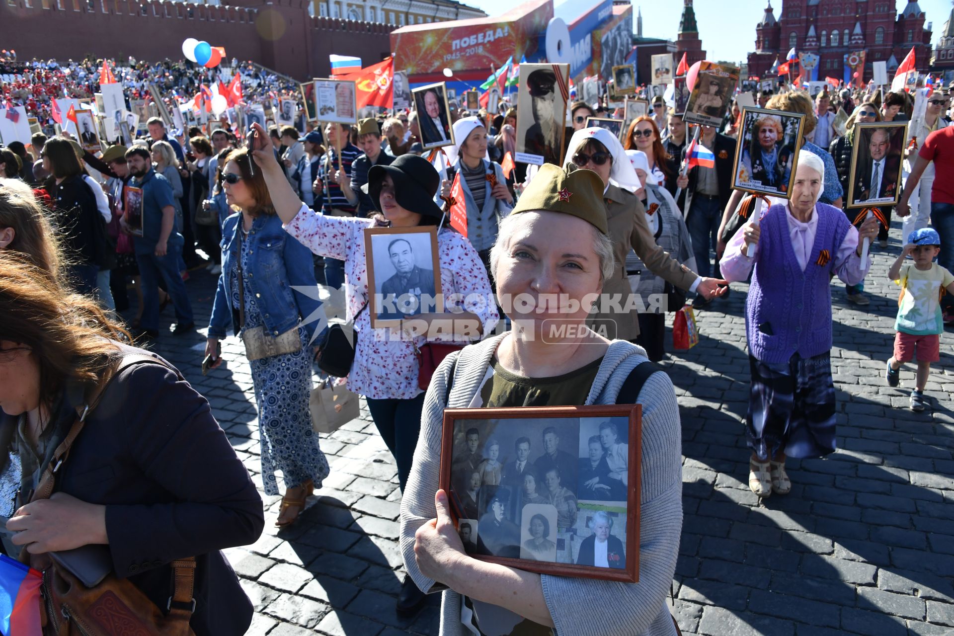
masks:
<svg viewBox="0 0 954 636"><path fill-rule="evenodd" d="M422 590L446 586L446 636L676 634L665 597L679 545L682 481L679 412L666 374L649 375L636 392L643 409L642 465L648 467L640 482L640 544L633 546L639 549L638 585L473 559L450 520L447 494L438 489L445 407L613 404L624 381L647 361L641 347L605 339L586 324L591 295L603 290L615 269L603 190L590 170L541 166L501 223L490 253L502 304L529 298L529 313L511 309L513 331L448 356L427 389L401 503L401 548L408 574ZM547 333L553 322L565 329ZM653 369L643 367L633 380L647 370ZM629 393L623 403L635 400Z"/></svg>

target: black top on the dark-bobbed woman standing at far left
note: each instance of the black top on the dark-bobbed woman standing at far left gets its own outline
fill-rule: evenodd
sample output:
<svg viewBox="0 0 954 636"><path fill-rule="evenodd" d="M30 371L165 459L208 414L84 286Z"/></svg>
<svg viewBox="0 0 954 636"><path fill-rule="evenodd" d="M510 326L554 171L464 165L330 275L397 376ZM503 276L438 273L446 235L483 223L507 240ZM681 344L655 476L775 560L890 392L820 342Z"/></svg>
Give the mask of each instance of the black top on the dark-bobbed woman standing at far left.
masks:
<svg viewBox="0 0 954 636"><path fill-rule="evenodd" d="M83 177L77 174L59 185L51 178L47 192L52 198L52 223L67 256L81 265L106 264L106 220L99 214L93 191Z"/></svg>

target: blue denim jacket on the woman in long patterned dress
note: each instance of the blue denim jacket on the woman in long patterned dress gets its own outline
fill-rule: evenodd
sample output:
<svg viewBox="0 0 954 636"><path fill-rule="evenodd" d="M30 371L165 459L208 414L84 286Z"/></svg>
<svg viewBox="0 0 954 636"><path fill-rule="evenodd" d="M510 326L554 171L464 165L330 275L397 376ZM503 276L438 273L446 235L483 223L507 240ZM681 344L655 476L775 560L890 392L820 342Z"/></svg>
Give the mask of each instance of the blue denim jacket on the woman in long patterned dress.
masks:
<svg viewBox="0 0 954 636"><path fill-rule="evenodd" d="M240 222L241 214L234 214L225 219L222 228L222 273L218 277L216 300L209 320L209 336L212 338L225 338L226 330L233 322L231 277L235 259L239 257L236 236ZM277 215L255 218L247 240L250 241L250 252L245 276L256 295L265 328L272 336L278 336L321 306L319 300L292 289L292 286L312 287L316 291L314 296L318 296L311 251L281 229L281 219ZM238 331L238 325L233 326ZM309 338L316 326L317 321L305 325Z"/></svg>

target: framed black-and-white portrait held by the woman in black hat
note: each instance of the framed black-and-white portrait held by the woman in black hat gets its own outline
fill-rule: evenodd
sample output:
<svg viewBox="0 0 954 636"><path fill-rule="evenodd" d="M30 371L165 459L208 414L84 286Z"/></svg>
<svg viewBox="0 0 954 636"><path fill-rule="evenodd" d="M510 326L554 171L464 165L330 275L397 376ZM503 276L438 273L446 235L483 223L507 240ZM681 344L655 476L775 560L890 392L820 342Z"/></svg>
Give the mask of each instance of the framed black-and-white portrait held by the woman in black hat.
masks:
<svg viewBox="0 0 954 636"><path fill-rule="evenodd" d="M364 255L372 328L444 311L436 227L368 228Z"/></svg>

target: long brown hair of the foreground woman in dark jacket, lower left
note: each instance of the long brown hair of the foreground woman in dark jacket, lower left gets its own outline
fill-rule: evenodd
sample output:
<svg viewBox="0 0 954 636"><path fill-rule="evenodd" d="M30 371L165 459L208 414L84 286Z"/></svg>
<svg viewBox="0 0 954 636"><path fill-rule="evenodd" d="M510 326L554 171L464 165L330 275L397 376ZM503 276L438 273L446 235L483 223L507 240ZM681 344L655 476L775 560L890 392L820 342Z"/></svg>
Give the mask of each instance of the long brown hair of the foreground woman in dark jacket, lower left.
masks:
<svg viewBox="0 0 954 636"><path fill-rule="evenodd" d="M68 292L11 250L0 250L0 339L30 347L48 408L69 381L103 376L117 352L112 340L130 340L91 298Z"/></svg>

